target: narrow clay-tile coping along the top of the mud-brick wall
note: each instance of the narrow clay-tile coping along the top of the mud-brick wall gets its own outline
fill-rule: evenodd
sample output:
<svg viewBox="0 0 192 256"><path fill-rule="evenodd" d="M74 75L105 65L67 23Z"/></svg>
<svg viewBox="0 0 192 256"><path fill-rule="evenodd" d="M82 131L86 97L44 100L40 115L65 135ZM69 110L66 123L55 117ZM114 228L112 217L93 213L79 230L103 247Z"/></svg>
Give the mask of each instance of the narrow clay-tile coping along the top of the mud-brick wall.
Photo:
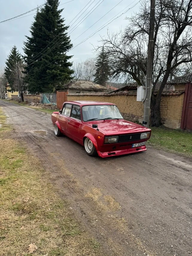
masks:
<svg viewBox="0 0 192 256"><path fill-rule="evenodd" d="M183 94L185 91L166 91L162 93L162 96L178 96ZM112 93L106 93L106 92L99 92L99 93L71 93L68 94L68 96L114 96L114 95L132 95L137 96L137 92L112 92ZM154 95L157 95L157 92L154 93Z"/></svg>

